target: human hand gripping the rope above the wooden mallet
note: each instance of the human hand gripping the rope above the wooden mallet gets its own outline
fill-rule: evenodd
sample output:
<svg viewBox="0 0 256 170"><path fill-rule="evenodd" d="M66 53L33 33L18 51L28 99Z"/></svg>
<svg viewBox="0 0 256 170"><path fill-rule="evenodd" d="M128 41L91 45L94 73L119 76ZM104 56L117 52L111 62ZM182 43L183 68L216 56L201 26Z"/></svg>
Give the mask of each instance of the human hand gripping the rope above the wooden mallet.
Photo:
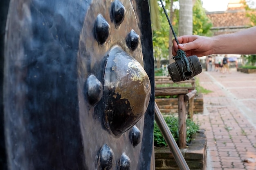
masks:
<svg viewBox="0 0 256 170"><path fill-rule="evenodd" d="M213 39L199 35L184 35L178 37L179 45L175 39L173 40L172 53L177 55L177 50L181 49L186 52L187 56L197 55L202 57L213 54Z"/></svg>

